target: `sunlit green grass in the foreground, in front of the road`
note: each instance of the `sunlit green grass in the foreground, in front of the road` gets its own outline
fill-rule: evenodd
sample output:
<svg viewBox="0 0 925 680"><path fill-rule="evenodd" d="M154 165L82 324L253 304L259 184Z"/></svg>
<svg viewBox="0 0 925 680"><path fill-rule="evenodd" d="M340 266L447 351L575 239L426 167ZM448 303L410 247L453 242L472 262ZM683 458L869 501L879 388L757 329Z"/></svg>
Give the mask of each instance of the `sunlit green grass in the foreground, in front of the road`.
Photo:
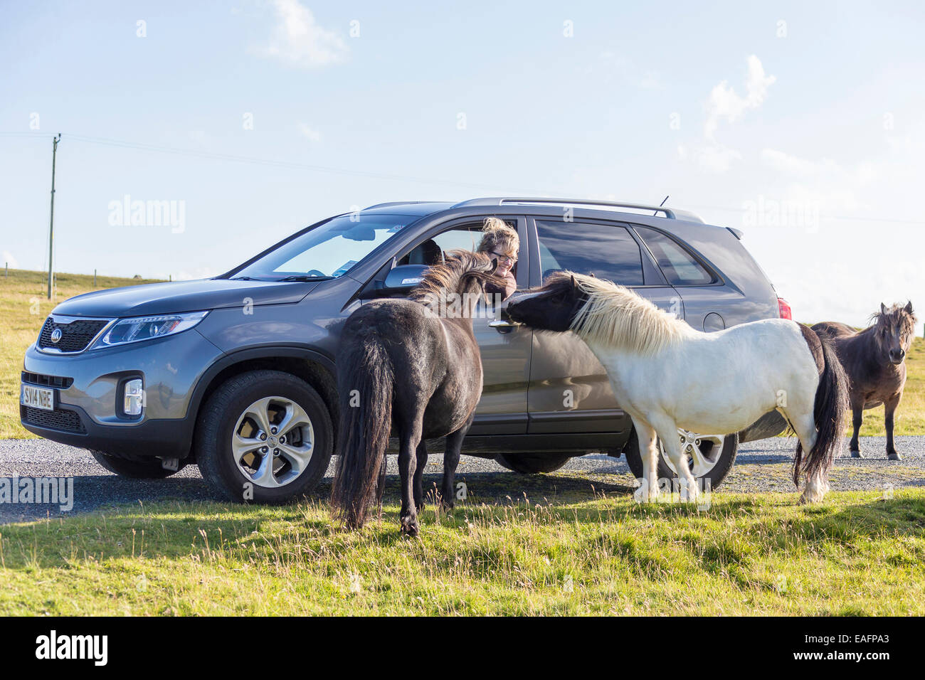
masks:
<svg viewBox="0 0 925 680"><path fill-rule="evenodd" d="M925 489L714 494L708 511L588 492L467 504L401 538L317 503L162 502L6 525L0 614L925 614Z"/></svg>

